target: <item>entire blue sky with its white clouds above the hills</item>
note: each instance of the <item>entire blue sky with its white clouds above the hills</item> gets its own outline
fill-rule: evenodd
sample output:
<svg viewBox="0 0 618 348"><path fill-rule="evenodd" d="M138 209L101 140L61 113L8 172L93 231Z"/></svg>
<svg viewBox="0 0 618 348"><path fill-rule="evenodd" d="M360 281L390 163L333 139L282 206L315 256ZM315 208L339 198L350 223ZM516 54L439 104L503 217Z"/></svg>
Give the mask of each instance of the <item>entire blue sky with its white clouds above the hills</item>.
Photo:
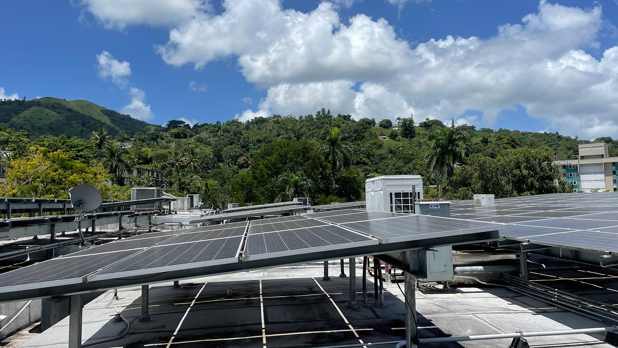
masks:
<svg viewBox="0 0 618 348"><path fill-rule="evenodd" d="M612 70L618 60L609 59L614 59L611 48L618 45L614 0L339 0L330 7L307 0L180 0L187 7L173 15L166 1L151 2L152 7L161 6L159 12L138 0L120 13L114 9L121 0L5 2L0 12L5 34L0 88L4 95L18 93L20 98L86 99L117 111L142 108L135 112L158 124L180 117L215 122L308 114L323 106L378 120L413 112L417 121L453 118L458 124L495 129L618 136L618 106L611 96L618 91L618 67ZM245 9L246 4L258 7ZM280 8L255 10L267 6ZM282 15L302 19L312 12L315 18L331 19L332 35L311 37L311 28L320 29L311 27L311 20L286 32L289 25L280 20ZM239 13L246 19L226 23L233 17L229 14ZM378 33L378 38L345 31L354 20L361 22L358 14L368 16L363 22L370 27L366 35ZM530 15L534 18L522 22ZM564 20L570 22L562 25ZM217 32L216 23L246 28ZM497 40L498 27L507 24L516 32L513 25L527 28L507 30L509 37ZM211 35L200 36L205 34L190 29L195 25ZM171 40L170 30L177 30L179 41L161 51L158 45ZM384 37L388 30L396 37ZM252 36L256 32L263 40ZM449 43L449 35L465 41ZM476 41L469 40L471 36ZM273 53L290 38L294 45ZM438 43L425 49L431 39L442 39L448 47ZM527 40L538 41L530 53L521 46ZM360 48L349 53L342 44L348 41L360 42ZM379 59L372 51L376 47ZM130 74L120 77L124 86L112 82L111 75L101 77L97 56L103 51L119 63L129 62ZM316 51L334 57L323 60ZM428 51L430 56L423 56ZM308 57L313 54L316 57ZM308 58L299 62L298 57ZM540 74L538 69L544 70ZM130 88L142 94L136 97ZM137 104L126 109L132 101ZM147 106L149 112L143 109Z"/></svg>

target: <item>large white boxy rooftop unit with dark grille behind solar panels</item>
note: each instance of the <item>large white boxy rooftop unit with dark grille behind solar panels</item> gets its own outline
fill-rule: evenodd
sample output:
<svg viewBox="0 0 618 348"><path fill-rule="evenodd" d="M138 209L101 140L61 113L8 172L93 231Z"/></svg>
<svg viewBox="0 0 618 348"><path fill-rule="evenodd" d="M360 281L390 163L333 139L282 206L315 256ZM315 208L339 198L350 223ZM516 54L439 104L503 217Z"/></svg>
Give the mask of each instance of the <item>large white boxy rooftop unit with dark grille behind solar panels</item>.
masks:
<svg viewBox="0 0 618 348"><path fill-rule="evenodd" d="M408 213L414 202L423 199L423 177L420 175L378 176L365 180L366 209Z"/></svg>

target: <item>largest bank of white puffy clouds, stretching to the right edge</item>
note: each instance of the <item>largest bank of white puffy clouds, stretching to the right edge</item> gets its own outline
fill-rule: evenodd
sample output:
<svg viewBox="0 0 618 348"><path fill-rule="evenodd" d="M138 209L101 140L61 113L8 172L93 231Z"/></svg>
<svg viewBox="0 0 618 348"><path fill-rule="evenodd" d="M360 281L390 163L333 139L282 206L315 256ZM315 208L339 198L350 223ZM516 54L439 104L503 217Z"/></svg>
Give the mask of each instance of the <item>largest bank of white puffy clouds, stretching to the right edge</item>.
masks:
<svg viewBox="0 0 618 348"><path fill-rule="evenodd" d="M541 0L535 13L499 26L489 38L453 33L415 46L384 19L342 20L331 2L307 13L283 9L279 0L224 0L222 6L219 14L203 11L175 22L156 51L168 64L196 69L236 57L247 82L267 90L258 111L245 110L239 119L325 107L356 118L413 113L417 120L493 127L502 110L520 104L564 134L618 135L618 46L600 59L587 51L599 48L598 5ZM466 116L470 109L482 116Z"/></svg>

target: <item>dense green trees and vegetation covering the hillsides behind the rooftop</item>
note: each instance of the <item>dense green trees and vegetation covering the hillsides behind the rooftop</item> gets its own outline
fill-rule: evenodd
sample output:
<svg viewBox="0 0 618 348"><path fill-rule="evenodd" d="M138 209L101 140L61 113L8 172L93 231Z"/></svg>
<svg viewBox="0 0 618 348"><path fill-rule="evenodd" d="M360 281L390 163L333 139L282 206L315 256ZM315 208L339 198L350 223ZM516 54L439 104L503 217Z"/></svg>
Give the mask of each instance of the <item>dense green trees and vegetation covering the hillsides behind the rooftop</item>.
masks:
<svg viewBox="0 0 618 348"><path fill-rule="evenodd" d="M79 130L59 136L36 138L40 133L28 134L24 127L0 128L0 148L14 151L1 195L64 197L67 187L82 180L97 187L113 183L103 189L106 197L127 197L131 185L155 182L145 176L125 180L135 166L163 172L168 192L200 193L203 202L214 206L293 197L309 197L313 204L363 200L367 177L397 174L422 175L426 198L438 196L438 184L444 185L447 199L470 199L473 193L499 198L569 192L552 161L554 156L574 158L583 142L557 133L477 130L430 119L417 125L412 117L394 124L382 120L383 127L375 127L375 119L355 121L326 109L298 117L195 125L171 120L166 127L151 127L101 107L96 114L98 106L90 102L70 101L71 108L59 101L0 102L0 121L9 125L6 115L46 112L36 109L43 106L66 120L82 112L75 109L79 105L98 117L88 116ZM380 135L389 140L379 140ZM612 155L616 153L614 140L598 141L609 143ZM117 143L132 146L119 148ZM35 175L47 168L72 174L65 179Z"/></svg>

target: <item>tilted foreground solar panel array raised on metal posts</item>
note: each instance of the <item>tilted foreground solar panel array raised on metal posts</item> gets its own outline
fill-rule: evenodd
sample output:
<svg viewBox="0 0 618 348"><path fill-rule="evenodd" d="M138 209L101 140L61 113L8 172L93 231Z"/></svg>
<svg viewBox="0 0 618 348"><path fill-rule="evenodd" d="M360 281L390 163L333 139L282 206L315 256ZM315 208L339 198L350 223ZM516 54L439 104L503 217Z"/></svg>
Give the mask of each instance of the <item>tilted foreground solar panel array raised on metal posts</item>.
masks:
<svg viewBox="0 0 618 348"><path fill-rule="evenodd" d="M476 232L487 232L479 237L487 239L501 227L479 221L349 209L152 232L4 273L0 292ZM350 255L354 255L352 251Z"/></svg>

